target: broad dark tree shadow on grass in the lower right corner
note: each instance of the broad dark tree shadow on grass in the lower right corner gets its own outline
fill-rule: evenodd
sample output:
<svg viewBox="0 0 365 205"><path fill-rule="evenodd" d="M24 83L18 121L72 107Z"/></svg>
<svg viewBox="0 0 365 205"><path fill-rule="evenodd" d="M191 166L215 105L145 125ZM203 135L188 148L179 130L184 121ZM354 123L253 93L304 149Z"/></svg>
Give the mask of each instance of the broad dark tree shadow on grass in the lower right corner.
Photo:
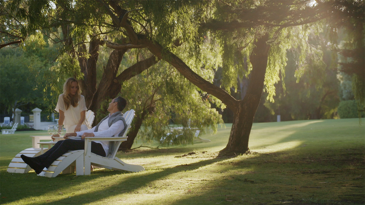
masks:
<svg viewBox="0 0 365 205"><path fill-rule="evenodd" d="M229 170L220 169L227 172L216 183L192 186L169 204L365 203L364 147L343 149L335 158L303 154L287 150L219 162Z"/></svg>

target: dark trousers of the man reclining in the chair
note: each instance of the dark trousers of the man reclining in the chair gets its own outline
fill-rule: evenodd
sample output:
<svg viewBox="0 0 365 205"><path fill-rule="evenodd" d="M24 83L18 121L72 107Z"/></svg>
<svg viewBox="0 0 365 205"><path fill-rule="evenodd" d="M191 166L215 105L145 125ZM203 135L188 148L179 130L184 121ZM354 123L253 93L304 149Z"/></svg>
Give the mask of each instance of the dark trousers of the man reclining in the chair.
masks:
<svg viewBox="0 0 365 205"><path fill-rule="evenodd" d="M83 150L85 140L65 139L58 141L44 154L37 156L42 164L48 168L54 160L68 152L69 150ZM91 152L100 156L106 156L103 146L100 143L91 142Z"/></svg>

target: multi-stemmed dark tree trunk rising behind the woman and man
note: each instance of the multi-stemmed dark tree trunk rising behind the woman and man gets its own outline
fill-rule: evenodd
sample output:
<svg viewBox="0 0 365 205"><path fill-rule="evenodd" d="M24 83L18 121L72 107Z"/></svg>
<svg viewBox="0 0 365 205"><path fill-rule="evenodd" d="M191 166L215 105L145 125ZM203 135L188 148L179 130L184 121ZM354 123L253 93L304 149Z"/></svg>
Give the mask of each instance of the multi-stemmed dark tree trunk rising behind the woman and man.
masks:
<svg viewBox="0 0 365 205"><path fill-rule="evenodd" d="M80 64L81 72L84 74L84 79L80 81L82 85L82 94L85 96L87 108L93 112L100 109L100 104L105 99L115 98L119 94L124 81L137 76L160 61L160 59L156 59L153 55L150 58L139 61L128 67L117 76L120 62L128 49L114 50L109 57L107 65L104 67L103 76L97 86L96 63L99 58L99 46L99 39L93 39L90 42L88 51L90 54L89 58L85 58L82 54L82 52L86 51L85 45L81 45L78 50L78 62ZM100 119L96 117L94 122L97 123L99 120Z"/></svg>

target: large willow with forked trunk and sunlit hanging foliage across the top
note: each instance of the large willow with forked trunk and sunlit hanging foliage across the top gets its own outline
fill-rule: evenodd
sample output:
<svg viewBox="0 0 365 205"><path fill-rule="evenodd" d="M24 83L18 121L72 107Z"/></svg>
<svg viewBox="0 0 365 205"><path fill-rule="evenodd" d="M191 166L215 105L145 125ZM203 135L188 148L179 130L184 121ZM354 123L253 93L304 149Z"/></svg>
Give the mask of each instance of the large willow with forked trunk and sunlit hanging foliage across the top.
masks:
<svg viewBox="0 0 365 205"><path fill-rule="evenodd" d="M308 31L325 20L351 22L353 9L364 7L362 1L55 1L54 23L61 24L65 42L76 36L91 36L89 55L86 47L69 44L72 58L79 56L85 86L92 90L91 102L99 95L120 90L120 83L162 59L175 67L201 92L214 96L215 102L231 109L234 122L228 144L222 154L249 151L248 142L254 114L263 90L269 98L275 94L274 84L282 76L288 49L296 50L299 69L296 76L308 70L323 70L322 52L308 41ZM361 12L360 12L361 13ZM69 17L73 16L72 20ZM338 17L343 17L338 19ZM322 27L322 26L321 26ZM363 28L363 26L362 26ZM70 31L68 31L70 29ZM333 32L333 31L332 31ZM84 34L84 35L82 35ZM79 37L80 42L85 37ZM76 38L77 39L77 38ZM108 40L109 39L109 40ZM208 43L209 46L206 46ZM111 67L105 67L107 81L96 89L92 70L82 65L93 63L100 45L115 49ZM181 55L177 47L183 47ZM131 48L145 48L151 57L145 66L129 69L128 75L116 75L114 63ZM201 50L215 49L219 56L206 58ZM85 57L84 60L82 57ZM222 59L222 62L217 61ZM147 63L148 62L148 63ZM214 63L211 63L214 62ZM73 63L71 63L73 64ZM147 66L146 66L147 65ZM66 66L66 65L65 65ZM222 67L222 87L202 73ZM123 71L124 72L124 71ZM235 99L230 88L237 85L237 75L249 78L243 100ZM315 79L315 78L314 78ZM317 80L320 84L321 81ZM284 84L283 84L284 85ZM320 85L319 85L320 86ZM97 94L98 93L98 94ZM95 105L97 106L97 104Z"/></svg>

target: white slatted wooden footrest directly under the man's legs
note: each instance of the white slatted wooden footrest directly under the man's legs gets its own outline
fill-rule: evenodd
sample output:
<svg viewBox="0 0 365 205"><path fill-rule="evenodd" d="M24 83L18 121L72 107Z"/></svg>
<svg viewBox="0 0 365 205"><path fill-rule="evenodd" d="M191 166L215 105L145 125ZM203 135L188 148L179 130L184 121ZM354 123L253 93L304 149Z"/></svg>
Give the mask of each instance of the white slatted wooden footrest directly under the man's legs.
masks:
<svg viewBox="0 0 365 205"><path fill-rule="evenodd" d="M84 175L84 150L68 151L56 159L48 169L38 174L42 177L56 177L59 173L73 173L76 167L76 175Z"/></svg>

